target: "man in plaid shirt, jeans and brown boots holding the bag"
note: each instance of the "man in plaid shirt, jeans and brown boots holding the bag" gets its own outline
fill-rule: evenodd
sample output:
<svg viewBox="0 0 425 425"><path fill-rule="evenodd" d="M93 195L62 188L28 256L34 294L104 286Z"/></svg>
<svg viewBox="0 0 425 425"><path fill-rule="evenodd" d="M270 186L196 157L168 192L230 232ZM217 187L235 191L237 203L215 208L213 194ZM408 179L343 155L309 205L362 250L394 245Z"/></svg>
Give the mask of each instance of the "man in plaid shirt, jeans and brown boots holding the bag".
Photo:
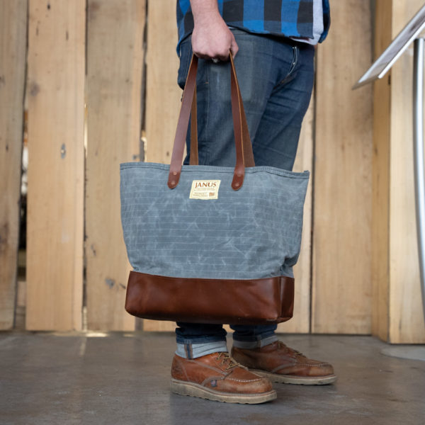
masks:
<svg viewBox="0 0 425 425"><path fill-rule="evenodd" d="M177 23L182 88L192 52L202 59L197 79L199 164L235 163L230 50L256 165L292 170L312 93L314 45L329 28L328 0L178 0ZM189 138L187 144L190 152ZM276 398L271 381L321 385L336 380L329 363L311 360L278 341L276 325L231 326L231 356L221 325L177 325L171 368L176 393L261 403Z"/></svg>

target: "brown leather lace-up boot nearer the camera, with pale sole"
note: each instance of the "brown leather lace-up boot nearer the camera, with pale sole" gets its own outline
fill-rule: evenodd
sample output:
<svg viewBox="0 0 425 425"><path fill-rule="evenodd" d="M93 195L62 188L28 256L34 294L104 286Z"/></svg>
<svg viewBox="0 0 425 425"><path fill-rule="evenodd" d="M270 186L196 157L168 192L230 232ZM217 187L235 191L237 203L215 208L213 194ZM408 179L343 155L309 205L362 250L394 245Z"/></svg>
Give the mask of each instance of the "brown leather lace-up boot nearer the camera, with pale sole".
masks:
<svg viewBox="0 0 425 425"><path fill-rule="evenodd" d="M234 361L229 353L188 359L175 355L171 391L217 402L258 404L276 399L271 382Z"/></svg>

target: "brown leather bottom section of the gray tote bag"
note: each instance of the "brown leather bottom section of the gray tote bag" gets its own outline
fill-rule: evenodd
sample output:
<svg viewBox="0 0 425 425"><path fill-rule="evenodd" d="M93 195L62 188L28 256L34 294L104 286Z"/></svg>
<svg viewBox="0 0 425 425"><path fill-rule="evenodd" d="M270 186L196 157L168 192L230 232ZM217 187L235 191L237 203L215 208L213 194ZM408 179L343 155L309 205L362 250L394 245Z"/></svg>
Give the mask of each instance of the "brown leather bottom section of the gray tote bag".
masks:
<svg viewBox="0 0 425 425"><path fill-rule="evenodd" d="M131 271L125 310L143 319L272 324L293 317L294 279L186 279Z"/></svg>

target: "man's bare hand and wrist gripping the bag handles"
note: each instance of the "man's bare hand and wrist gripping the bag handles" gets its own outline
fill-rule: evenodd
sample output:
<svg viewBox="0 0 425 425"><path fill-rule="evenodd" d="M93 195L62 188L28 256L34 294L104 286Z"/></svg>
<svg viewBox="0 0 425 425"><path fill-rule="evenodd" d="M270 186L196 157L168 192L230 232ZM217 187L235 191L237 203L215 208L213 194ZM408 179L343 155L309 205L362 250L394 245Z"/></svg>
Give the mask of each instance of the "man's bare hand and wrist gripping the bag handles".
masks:
<svg viewBox="0 0 425 425"><path fill-rule="evenodd" d="M229 50L236 55L239 47L232 31L220 16L217 0L191 0L194 28L192 50L202 59L229 58Z"/></svg>

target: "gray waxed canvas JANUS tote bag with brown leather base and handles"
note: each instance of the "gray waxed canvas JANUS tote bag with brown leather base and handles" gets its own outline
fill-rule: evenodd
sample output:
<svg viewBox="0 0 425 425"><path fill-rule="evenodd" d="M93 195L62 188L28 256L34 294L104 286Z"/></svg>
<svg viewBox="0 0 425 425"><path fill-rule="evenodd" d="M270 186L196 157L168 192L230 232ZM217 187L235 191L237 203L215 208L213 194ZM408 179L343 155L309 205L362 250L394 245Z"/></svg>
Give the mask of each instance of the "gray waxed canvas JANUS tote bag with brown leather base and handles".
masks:
<svg viewBox="0 0 425 425"><path fill-rule="evenodd" d="M120 164L121 220L128 259L125 309L137 317L266 324L293 315L309 172L254 166L232 56L236 164L198 165L192 57L171 164ZM191 164L183 165L190 115Z"/></svg>

